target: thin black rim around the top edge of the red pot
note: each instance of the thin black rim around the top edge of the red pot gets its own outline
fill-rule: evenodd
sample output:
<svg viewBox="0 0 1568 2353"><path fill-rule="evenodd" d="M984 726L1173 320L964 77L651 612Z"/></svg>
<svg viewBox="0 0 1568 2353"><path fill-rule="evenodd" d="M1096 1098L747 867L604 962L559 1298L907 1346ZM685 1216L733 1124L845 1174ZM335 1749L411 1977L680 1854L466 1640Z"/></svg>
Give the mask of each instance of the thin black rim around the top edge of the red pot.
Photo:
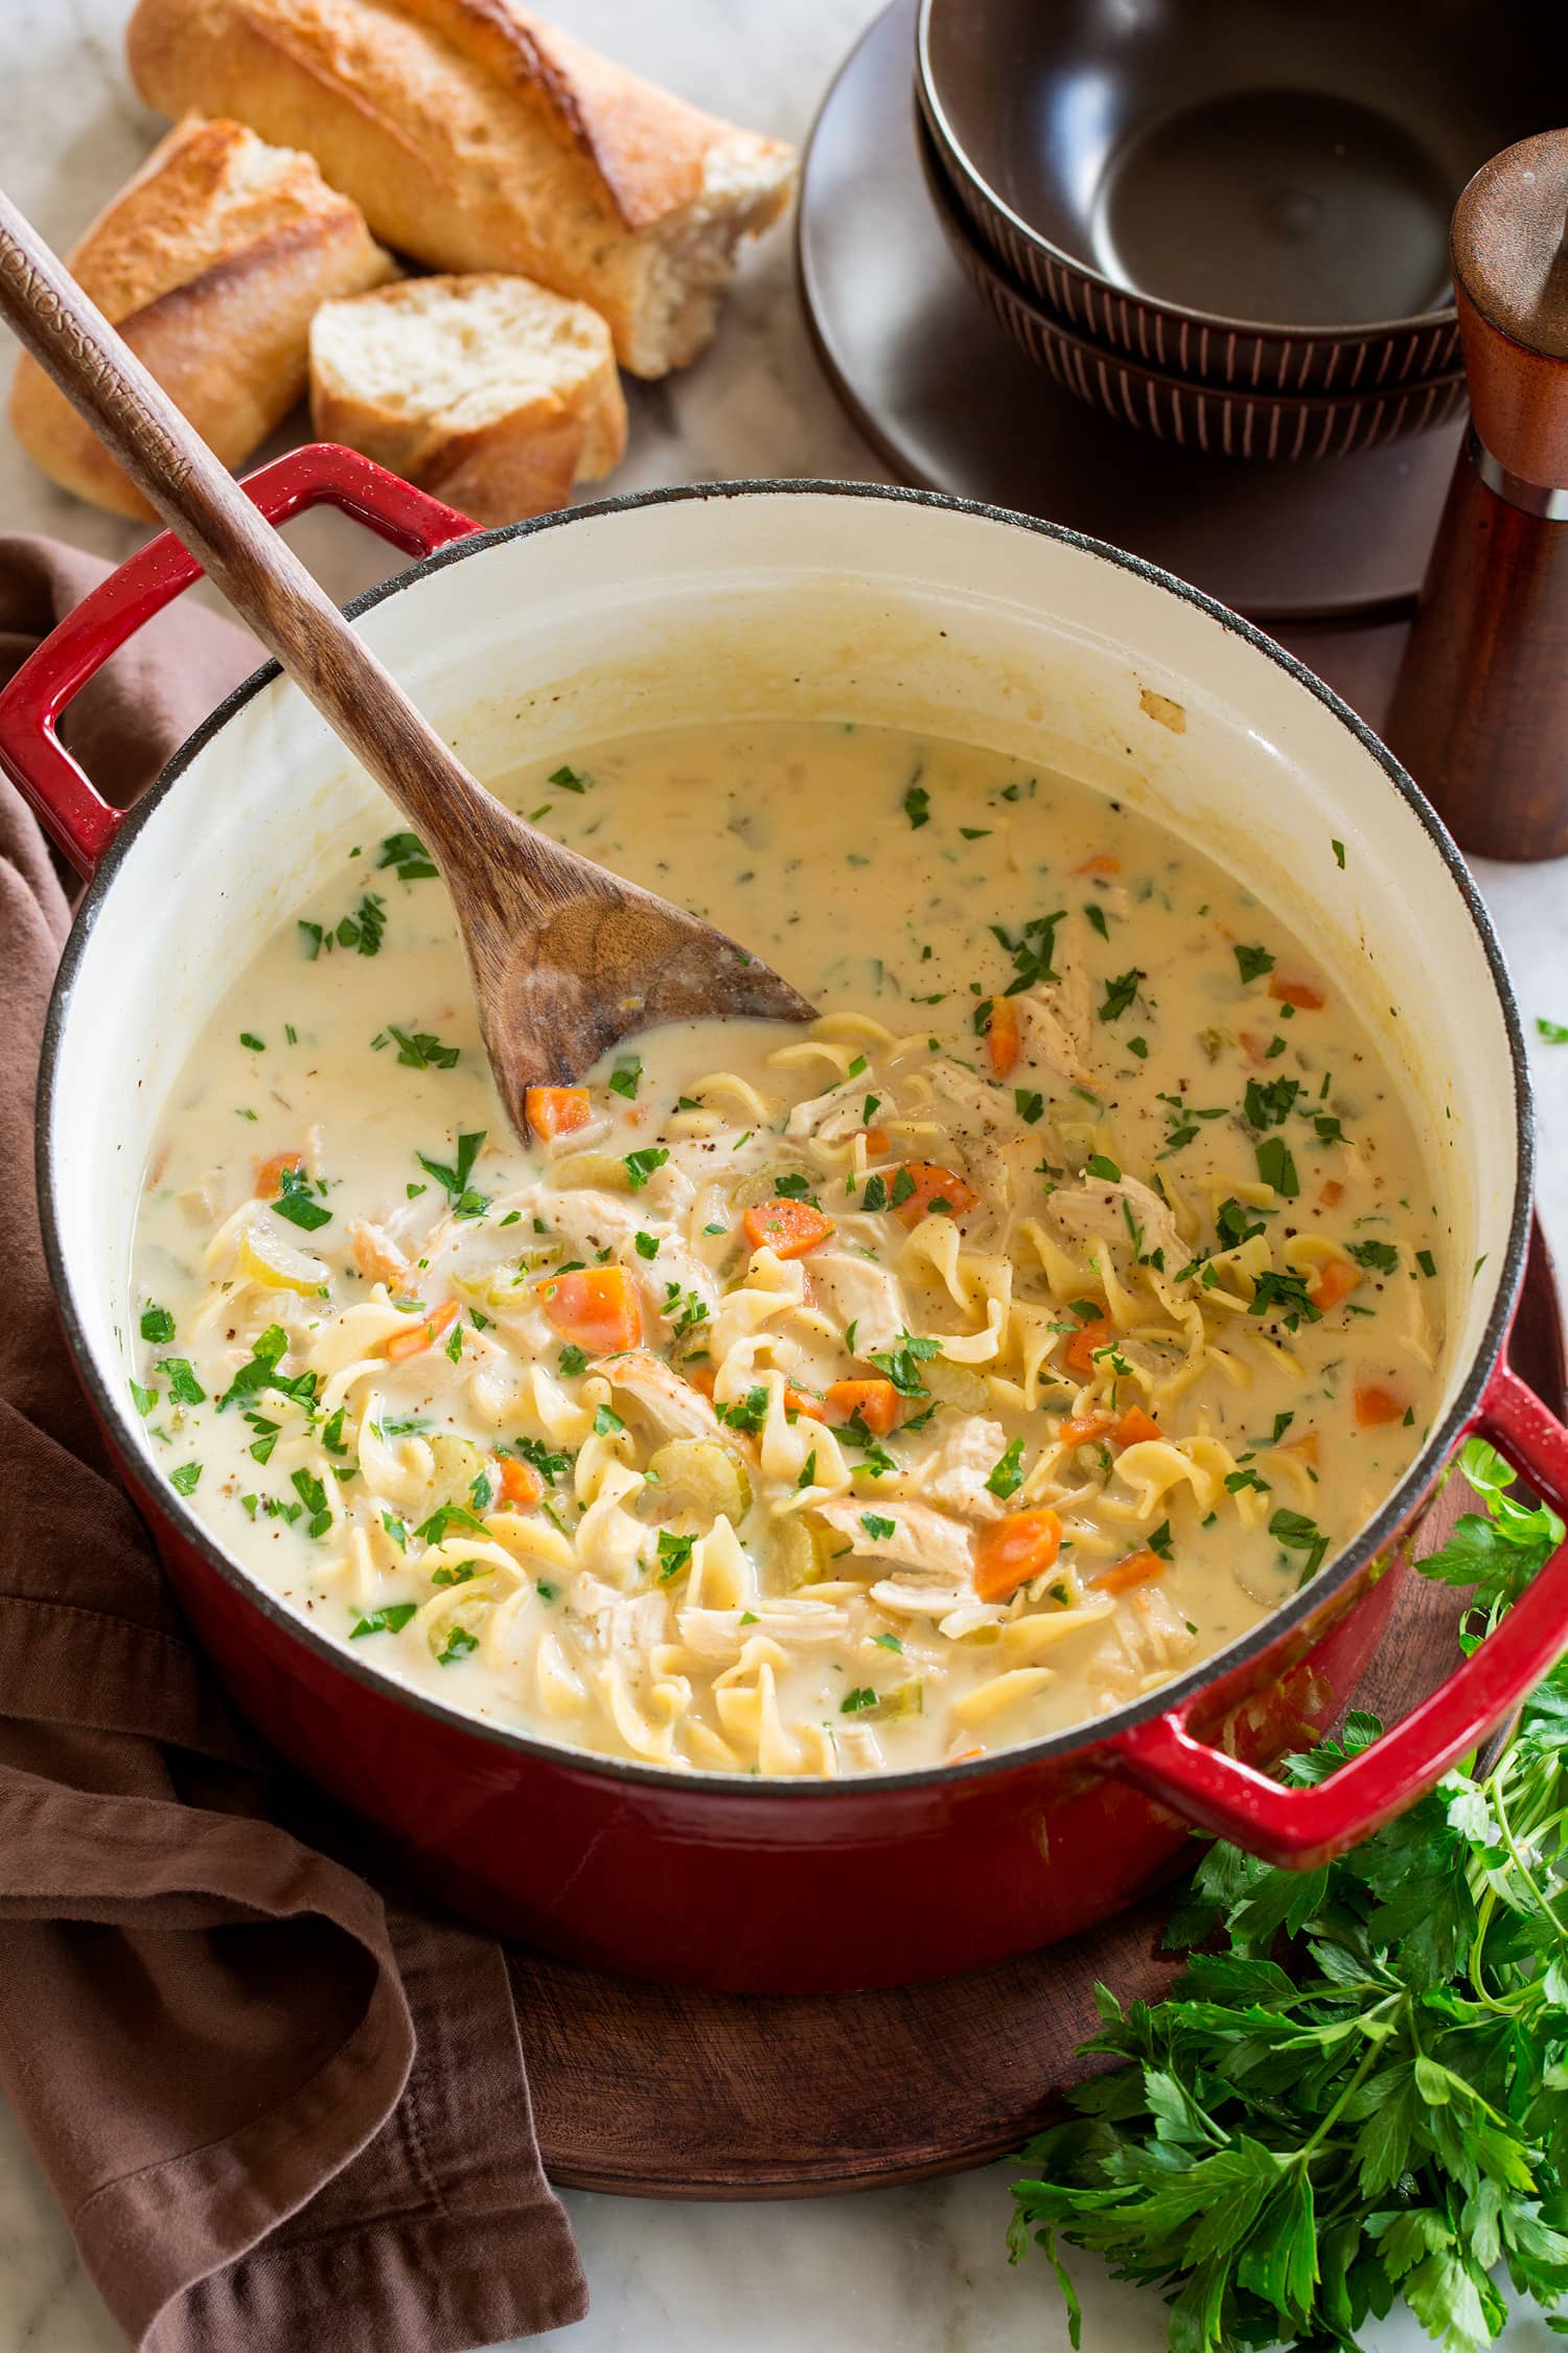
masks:
<svg viewBox="0 0 1568 2353"><path fill-rule="evenodd" d="M1239 1668L1253 1664L1265 1652L1274 1649L1286 1635L1291 1635L1305 1619L1314 1617L1324 1600L1340 1593L1352 1584L1371 1560L1382 1553L1392 1539L1401 1532L1410 1513L1418 1508L1432 1480L1443 1468L1453 1454L1465 1428L1472 1424L1486 1384L1502 1355L1507 1341L1509 1322L1514 1315L1514 1304L1519 1299L1519 1287L1523 1282L1526 1249L1530 1238L1530 1200L1533 1200L1533 1167L1535 1167L1535 1132L1533 1132L1533 1104L1530 1104L1530 1075L1523 1045L1523 1026L1519 1019L1519 1007L1514 1002L1512 984L1507 976L1507 965L1502 960L1502 948L1493 929L1486 904L1455 847L1448 828L1439 819L1436 809L1420 793L1415 781L1394 760L1385 744L1371 732L1371 727L1356 718L1354 711L1340 696L1324 685L1295 654L1288 654L1281 645L1267 638L1241 614L1229 612L1215 598L1206 595L1201 588L1192 588L1187 581L1175 579L1159 565L1147 562L1140 555L1128 555L1124 548L1114 548L1103 539L1091 539L1084 532L1070 532L1058 522L1044 522L1034 515L1020 515L1011 508L987 506L978 499L952 499L943 492L931 489L903 489L882 482L825 482L825 480L738 480L738 482L689 482L670 489L630 492L616 499L597 499L585 506L564 508L550 515L538 515L529 522L512 522L496 532L475 532L470 539L451 541L425 555L421 562L409 565L404 572L393 574L376 588L355 598L343 607L348 619L374 612L388 598L402 595L418 586L435 572L444 572L449 565L463 562L487 548L505 546L510 541L536 539L548 532L571 529L578 522L595 522L607 515L642 513L644 508L658 506L682 506L691 501L712 499L790 499L790 496L830 496L830 499L877 499L898 506L926 506L938 511L950 511L957 515L973 515L985 522L997 522L1009 529L1032 532L1041 539L1056 539L1060 546L1077 548L1100 562L1110 562L1121 572L1131 572L1135 579L1147 581L1154 588L1178 598L1182 605L1192 605L1197 612L1206 614L1222 631L1239 638L1265 661L1274 664L1286 673L1305 694L1321 704L1361 746L1363 753L1382 769L1389 786L1406 802L1410 814L1418 819L1432 845L1436 847L1443 866L1448 868L1448 880L1458 892L1465 911L1474 925L1481 941L1481 953L1486 955L1488 972L1493 976L1493 988L1497 993L1497 1005L1502 1012L1502 1024L1509 1040L1509 1066L1514 1082L1514 1202L1509 1212L1509 1235L1502 1254L1502 1266L1497 1273L1497 1289L1493 1297L1493 1308L1486 1320L1486 1332L1476 1346L1465 1379L1460 1381L1458 1395L1448 1407L1441 1426L1427 1438L1427 1445L1415 1457L1406 1475L1399 1480L1394 1492L1387 1497L1382 1508L1366 1522L1356 1541L1349 1544L1316 1579L1302 1586L1300 1593L1291 1595L1279 1609L1265 1617L1237 1642L1227 1645L1222 1652L1213 1652L1199 1666L1190 1668L1185 1675L1173 1678L1157 1692L1145 1694L1138 1701L1128 1701L1114 1708L1110 1715L1095 1718L1093 1725L1070 1725L1063 1732L1053 1732L1046 1739L1027 1741L1018 1748L1001 1748L994 1755L976 1758L966 1765L926 1765L914 1772L889 1772L877 1777L849 1777L839 1781L813 1781L813 1779L759 1779L755 1774L722 1774L722 1772L675 1772L663 1765L644 1765L637 1758L611 1758L590 1748L567 1748L557 1741L545 1741L531 1732L515 1729L510 1725L491 1725L477 1715L465 1715L449 1701L433 1699L425 1692L416 1692L393 1675L376 1671L371 1664L355 1659L353 1652L336 1642L331 1635L322 1633L317 1626L296 1617L284 1602L273 1595L259 1579L254 1579L223 1546L212 1537L202 1520L190 1511L188 1501L179 1497L172 1487L158 1485L141 1457L141 1445L136 1426L132 1421L127 1400L110 1388L108 1381L99 1377L92 1348L87 1344L82 1320L75 1308L75 1297L66 1268L66 1247L59 1226L59 1207L54 1193L54 1115L56 1115L56 1071L59 1054L71 1019L71 1002L75 993L78 976L82 972L85 958L92 951L92 936L96 929L99 913L115 885L120 866L136 842L141 828L162 807L167 795L179 786L181 776L190 762L214 741L214 736L242 711L254 696L282 675L280 664L266 661L247 680L242 680L207 720L181 744L174 758L167 762L155 784L146 788L132 814L118 828L108 852L99 861L96 873L82 892L66 948L54 979L54 991L49 998L49 1009L45 1019L42 1056L38 1073L38 1125L35 1125L35 1176L38 1176L38 1205L45 1240L45 1261L49 1268L49 1282L54 1289L56 1308L75 1360L75 1372L92 1405L96 1407L103 1426L108 1428L113 1445L129 1473L134 1489L143 1489L153 1499L153 1508L160 1518L169 1520L183 1544L195 1551L207 1567L212 1567L219 1579L242 1598L252 1609L259 1609L280 1633L289 1640L303 1645L320 1664L334 1668L360 1682L367 1692L378 1694L393 1706L402 1704L414 1715L430 1718L442 1725L442 1729L470 1737L480 1744L503 1748L510 1755L527 1758L536 1765L548 1765L555 1772L588 1774L595 1779L623 1781L628 1788L661 1788L661 1791L684 1791L698 1800L719 1802L731 1800L733 1805L858 1805L867 1798L870 1788L886 1791L889 1805L907 1793L940 1791L969 1781L980 1781L992 1774L1016 1774L1034 1765L1053 1762L1077 1753L1091 1753L1107 1746L1119 1732L1133 1725L1147 1722L1157 1715L1166 1715L1173 1708L1182 1708L1199 1699L1211 1685L1218 1685L1234 1675Z"/></svg>

